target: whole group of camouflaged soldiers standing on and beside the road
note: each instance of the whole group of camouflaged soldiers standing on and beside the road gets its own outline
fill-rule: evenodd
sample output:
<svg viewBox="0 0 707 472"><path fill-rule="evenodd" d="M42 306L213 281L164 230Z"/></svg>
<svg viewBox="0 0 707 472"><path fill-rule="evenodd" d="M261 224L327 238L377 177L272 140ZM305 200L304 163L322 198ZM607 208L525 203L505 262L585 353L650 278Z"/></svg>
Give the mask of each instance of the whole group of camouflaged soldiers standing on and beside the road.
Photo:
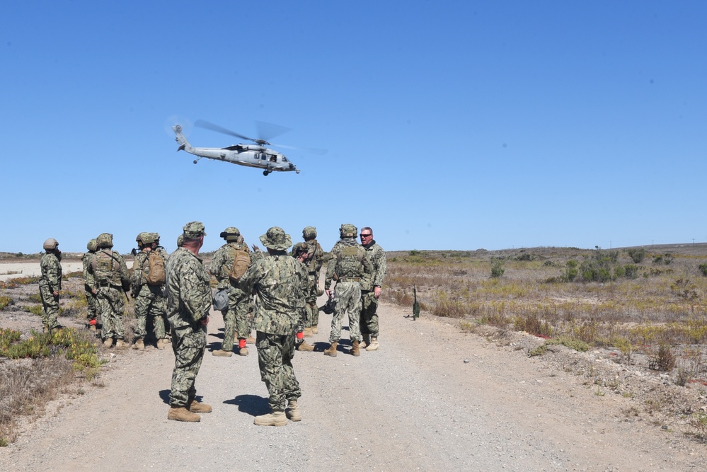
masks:
<svg viewBox="0 0 707 472"><path fill-rule="evenodd" d="M208 271L199 257L205 236L199 221L186 224L177 250L168 255L159 246L159 234L140 233L132 275L124 258L113 251L112 235L100 234L89 241L84 256L89 329L96 330L100 313L103 344L111 347L115 339L116 348L125 347L122 311L132 287L137 318L132 347L144 349L146 321L151 318L156 347L163 349L171 342L175 354L168 419L199 421L199 414L211 412L212 407L196 400L194 382L207 344L209 310L217 307L220 298L224 341L213 355L231 357L236 340L239 355L248 355L248 343L254 342L258 351L271 413L256 417L255 425L283 426L287 420L301 420L297 404L301 390L292 357L294 350L313 351L304 338L318 333L316 299L323 294L318 279L324 252L316 241L316 228L304 228L304 241L293 247L289 234L273 226L260 236L267 249L264 253L258 246L251 251L240 231L229 226L220 234L226 243L214 253ZM379 349L377 304L386 257L369 227L361 230L361 243L356 238L356 226L341 225L340 240L330 251L326 266L324 291L334 306L330 345L324 351L327 356L337 355L344 316L349 321L350 354L359 356L363 348ZM58 327L62 275L58 246L56 240L47 239L41 263L42 323L46 330ZM292 253L288 254L290 247ZM209 272L218 281L216 294L209 286ZM251 337L253 329L255 339Z"/></svg>

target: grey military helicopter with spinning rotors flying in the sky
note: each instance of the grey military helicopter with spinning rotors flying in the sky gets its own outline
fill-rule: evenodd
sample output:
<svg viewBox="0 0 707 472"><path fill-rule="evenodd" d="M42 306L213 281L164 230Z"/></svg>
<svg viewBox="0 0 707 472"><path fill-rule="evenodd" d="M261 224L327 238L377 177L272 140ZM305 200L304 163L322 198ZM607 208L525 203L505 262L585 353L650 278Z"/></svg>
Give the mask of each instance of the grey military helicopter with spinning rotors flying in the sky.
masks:
<svg viewBox="0 0 707 472"><path fill-rule="evenodd" d="M284 146L282 144L270 144L268 141L265 139L253 139L249 138L247 136L243 136L242 134L238 134L236 132L233 132L229 129L222 128L218 125L214 125L213 123L207 122L205 120L197 120L195 123L198 127L206 128L206 129L211 129L212 131L216 131L219 133L223 134L229 134L231 136L235 136L241 139L246 139L248 141L251 141L255 144L234 144L228 147L224 148L217 148L217 147L192 147L191 144L187 141L187 139L184 137L184 134L182 134L182 127L181 125L175 125L172 127L174 130L174 134L176 134L176 142L179 144L179 149L177 151L187 151L189 154L194 154L195 156L198 156L197 159L194 159L194 163L197 163L199 159L202 157L205 157L207 159L214 159L214 161L226 161L234 164L238 164L239 166L247 166L247 167L257 167L261 169L265 169L263 171L263 175L268 175L269 173L272 172L292 172L294 171L295 173L299 173L299 169L297 166L294 165L294 163L290 162L287 157L284 156L284 154L280 154L277 151L273 151L272 149L268 149L265 146L279 146L279 147L284 147L284 148L289 148L289 149L297 149L297 148L292 148L291 146ZM277 134L282 134L282 132L285 132L289 130L289 128L285 127L279 127L277 125L270 125L268 123L262 123L258 122L259 127L261 127L261 132L260 134L263 135L262 128L263 126L268 126L270 127L270 134L271 137L272 135ZM277 127L277 131L275 130L275 127ZM316 153L321 152L323 154L322 149L310 149L310 151L314 151Z"/></svg>

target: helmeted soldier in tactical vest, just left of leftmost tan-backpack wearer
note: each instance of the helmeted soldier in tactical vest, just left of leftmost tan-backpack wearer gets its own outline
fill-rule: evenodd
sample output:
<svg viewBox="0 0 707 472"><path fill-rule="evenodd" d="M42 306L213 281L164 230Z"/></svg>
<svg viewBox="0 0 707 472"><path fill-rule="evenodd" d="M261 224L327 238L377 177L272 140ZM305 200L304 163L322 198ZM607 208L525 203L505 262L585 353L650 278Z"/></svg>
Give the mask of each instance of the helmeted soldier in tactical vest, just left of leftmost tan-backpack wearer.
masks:
<svg viewBox="0 0 707 472"><path fill-rule="evenodd" d="M100 313L100 335L103 345L110 347L115 338L115 347L125 347L125 327L122 323L127 291L130 290L130 273L125 259L113 251L113 234L103 233L96 238L98 250L88 265L91 293L96 295L96 308Z"/></svg>

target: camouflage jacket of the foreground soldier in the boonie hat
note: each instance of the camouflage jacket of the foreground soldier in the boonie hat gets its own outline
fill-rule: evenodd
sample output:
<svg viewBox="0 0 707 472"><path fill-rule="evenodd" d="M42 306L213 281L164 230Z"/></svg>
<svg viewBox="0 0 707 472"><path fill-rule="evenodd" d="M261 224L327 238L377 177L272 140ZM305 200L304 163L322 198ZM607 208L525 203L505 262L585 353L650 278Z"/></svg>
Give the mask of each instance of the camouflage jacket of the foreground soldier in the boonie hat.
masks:
<svg viewBox="0 0 707 472"><path fill-rule="evenodd" d="M294 335L304 316L304 265L287 255L266 255L248 267L240 287L255 294L255 330Z"/></svg>

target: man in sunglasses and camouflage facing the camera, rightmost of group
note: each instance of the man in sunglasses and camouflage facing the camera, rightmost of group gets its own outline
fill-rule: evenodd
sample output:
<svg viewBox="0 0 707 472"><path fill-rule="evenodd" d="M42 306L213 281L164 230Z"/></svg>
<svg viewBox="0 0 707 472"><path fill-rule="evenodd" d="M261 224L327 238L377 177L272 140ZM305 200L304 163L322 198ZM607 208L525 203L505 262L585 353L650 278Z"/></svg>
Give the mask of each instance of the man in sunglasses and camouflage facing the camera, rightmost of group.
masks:
<svg viewBox="0 0 707 472"><path fill-rule="evenodd" d="M373 230L369 226L361 229L361 245L368 253L368 258L373 265L373 273L361 283L361 335L363 342L360 347L367 351L377 351L378 335L378 299L381 296L381 287L386 278L386 253L373 238Z"/></svg>

